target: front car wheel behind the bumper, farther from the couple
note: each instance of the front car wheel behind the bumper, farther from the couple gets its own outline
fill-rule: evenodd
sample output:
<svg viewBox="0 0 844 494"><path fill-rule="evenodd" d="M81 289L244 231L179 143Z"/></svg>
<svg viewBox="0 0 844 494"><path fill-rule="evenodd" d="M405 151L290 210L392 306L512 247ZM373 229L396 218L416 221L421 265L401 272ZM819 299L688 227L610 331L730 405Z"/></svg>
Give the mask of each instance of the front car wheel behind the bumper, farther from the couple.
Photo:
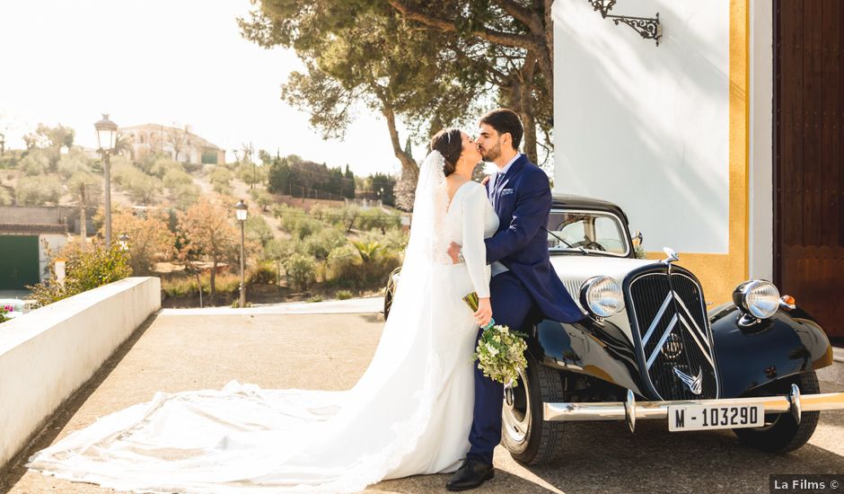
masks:
<svg viewBox="0 0 844 494"><path fill-rule="evenodd" d="M783 379L772 394L791 393L791 384L797 384L800 393L821 392L817 375L805 372L794 379ZM820 416L820 411L804 411L798 424L790 413L770 413L765 415L763 427L735 428L733 432L745 445L771 453L786 453L806 444L818 427Z"/></svg>

